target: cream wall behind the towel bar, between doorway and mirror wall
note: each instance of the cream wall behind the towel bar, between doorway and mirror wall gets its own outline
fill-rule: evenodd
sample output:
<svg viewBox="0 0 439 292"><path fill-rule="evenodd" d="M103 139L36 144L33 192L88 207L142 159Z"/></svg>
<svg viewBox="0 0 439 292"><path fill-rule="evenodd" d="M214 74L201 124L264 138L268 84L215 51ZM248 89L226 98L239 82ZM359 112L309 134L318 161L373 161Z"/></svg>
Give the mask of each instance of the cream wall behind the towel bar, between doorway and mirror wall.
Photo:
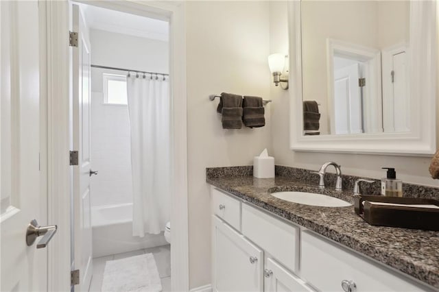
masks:
<svg viewBox="0 0 439 292"><path fill-rule="evenodd" d="M268 2L188 1L187 134L191 288L211 283L210 196L206 167L251 165L272 144L266 126L223 130L213 93L270 98ZM270 112L271 104L266 107Z"/></svg>

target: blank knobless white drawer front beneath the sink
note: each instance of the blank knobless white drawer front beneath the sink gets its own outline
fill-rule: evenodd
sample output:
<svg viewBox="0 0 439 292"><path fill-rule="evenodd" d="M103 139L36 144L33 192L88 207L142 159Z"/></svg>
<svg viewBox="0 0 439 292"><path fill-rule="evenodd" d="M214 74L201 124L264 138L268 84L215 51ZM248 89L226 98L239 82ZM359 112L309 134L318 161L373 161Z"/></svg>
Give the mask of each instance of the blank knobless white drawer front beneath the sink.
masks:
<svg viewBox="0 0 439 292"><path fill-rule="evenodd" d="M299 228L242 205L242 234L294 272L298 271Z"/></svg>

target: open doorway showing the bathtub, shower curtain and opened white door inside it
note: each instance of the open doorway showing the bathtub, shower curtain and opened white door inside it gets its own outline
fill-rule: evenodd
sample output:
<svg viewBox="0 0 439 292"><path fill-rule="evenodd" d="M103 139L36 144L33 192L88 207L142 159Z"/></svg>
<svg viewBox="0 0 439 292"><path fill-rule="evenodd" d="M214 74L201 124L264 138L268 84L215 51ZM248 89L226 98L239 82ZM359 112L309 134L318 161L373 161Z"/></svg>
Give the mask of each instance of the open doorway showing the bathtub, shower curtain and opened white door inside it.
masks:
<svg viewBox="0 0 439 292"><path fill-rule="evenodd" d="M161 143L161 148L167 147L169 150L167 143L163 140L156 143L152 135L154 132L168 133L164 135L168 136L167 141L170 144L170 132L167 129L171 111L169 102L160 104L165 108L156 115L156 119L167 120L167 123L152 125L152 131L145 132L147 137L140 137L141 145L138 148L136 145L139 137L135 138L139 129L144 130L150 127L150 122L156 121L154 118L149 119L156 114L150 110L154 102L163 103L169 99L169 90L163 96L158 96L151 90L154 86L169 87L169 25L167 21L115 10L85 4L79 6L78 16L83 19L80 21L83 25L79 26L78 60L82 64L82 70L79 71L78 86L81 89L78 92L80 106L77 113L73 88L73 136L75 137L75 133L80 134L78 141L81 142L77 147L82 147L77 169L88 165L90 174L83 179L82 176L76 175L79 180L89 181L89 188L77 193L73 186L73 206L77 210L74 210L72 218L75 230L71 243L75 250L72 265L75 269L82 270L82 291L101 291L108 285L123 285L126 277L119 279L121 283L115 282L117 276L111 274L112 269L117 269L116 275L121 275L124 263L149 258L152 263L145 265L154 265L158 275L155 275L154 271L146 273L144 270L127 273L130 273L130 277L135 277L133 273L145 273L139 276L140 279L147 278L147 275L159 276L163 291L170 291L170 247L169 240L164 236L165 231L170 233L170 190L157 190L154 186L148 188L149 186L145 185L149 177L160 177L156 173L166 164L165 160L170 160L170 153L160 159L161 164L157 166L159 169L150 168L147 172L138 173L137 165L139 160L146 161L142 160L148 155L144 153L145 150L152 149L145 143ZM73 18L75 9L77 7L73 5ZM84 45L88 40L89 45ZM140 97L135 96L136 93L133 91L143 86L150 86L150 90L141 93ZM136 104L136 98L141 99L140 104ZM145 113L137 110L143 102L147 102L142 108ZM147 116L147 119L137 121L141 126L134 123L139 114ZM78 117L80 124L78 131L74 130L75 117ZM163 138L163 135L159 138ZM87 141L90 141L89 149ZM140 154L137 153L139 148ZM89 153L87 160L81 160L81 152L83 155ZM156 156L158 157L158 154L154 154L152 158ZM152 165L152 160L140 167ZM87 163L84 163L85 161ZM170 178L171 175L167 173L163 176ZM136 181L139 177L142 178L140 190ZM75 180L75 174L73 182L79 186L84 185ZM169 186L169 183L164 185ZM159 199L148 198L150 193L154 193ZM147 210L143 212L143 209ZM150 213L158 216L150 218ZM159 221L156 223L158 226L148 229L150 221ZM139 222L142 225L140 234L139 228L136 228ZM146 225L145 231L143 225ZM111 283L108 284L108 281Z"/></svg>

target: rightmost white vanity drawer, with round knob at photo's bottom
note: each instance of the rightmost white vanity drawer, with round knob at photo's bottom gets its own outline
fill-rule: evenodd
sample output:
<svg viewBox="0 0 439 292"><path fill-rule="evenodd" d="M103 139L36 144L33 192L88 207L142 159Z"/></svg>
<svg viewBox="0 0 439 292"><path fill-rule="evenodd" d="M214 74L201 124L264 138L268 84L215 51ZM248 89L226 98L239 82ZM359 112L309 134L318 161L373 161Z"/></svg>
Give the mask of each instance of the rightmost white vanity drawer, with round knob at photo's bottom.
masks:
<svg viewBox="0 0 439 292"><path fill-rule="evenodd" d="M343 291L343 280L353 281L357 291L430 291L309 231L302 231L301 251L301 277L320 291Z"/></svg>

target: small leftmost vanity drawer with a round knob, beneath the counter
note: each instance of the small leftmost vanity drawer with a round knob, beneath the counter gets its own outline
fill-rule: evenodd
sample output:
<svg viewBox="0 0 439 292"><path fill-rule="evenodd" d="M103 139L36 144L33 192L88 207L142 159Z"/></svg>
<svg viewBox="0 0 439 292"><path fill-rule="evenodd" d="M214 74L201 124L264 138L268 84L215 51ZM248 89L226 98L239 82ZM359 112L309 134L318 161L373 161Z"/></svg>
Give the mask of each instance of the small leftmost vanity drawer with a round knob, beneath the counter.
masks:
<svg viewBox="0 0 439 292"><path fill-rule="evenodd" d="M217 188L211 188L212 212L236 230L241 231L241 202Z"/></svg>

